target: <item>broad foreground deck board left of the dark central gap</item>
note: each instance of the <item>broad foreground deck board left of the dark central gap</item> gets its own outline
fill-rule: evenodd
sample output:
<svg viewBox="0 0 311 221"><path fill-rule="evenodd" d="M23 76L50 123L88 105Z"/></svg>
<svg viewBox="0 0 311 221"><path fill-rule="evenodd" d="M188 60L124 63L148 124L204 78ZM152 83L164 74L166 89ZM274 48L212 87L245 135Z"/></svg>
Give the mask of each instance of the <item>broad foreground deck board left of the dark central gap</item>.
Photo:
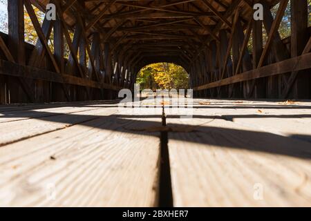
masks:
<svg viewBox="0 0 311 221"><path fill-rule="evenodd" d="M159 119L101 116L3 146L1 206L156 206L159 135L132 128Z"/></svg>

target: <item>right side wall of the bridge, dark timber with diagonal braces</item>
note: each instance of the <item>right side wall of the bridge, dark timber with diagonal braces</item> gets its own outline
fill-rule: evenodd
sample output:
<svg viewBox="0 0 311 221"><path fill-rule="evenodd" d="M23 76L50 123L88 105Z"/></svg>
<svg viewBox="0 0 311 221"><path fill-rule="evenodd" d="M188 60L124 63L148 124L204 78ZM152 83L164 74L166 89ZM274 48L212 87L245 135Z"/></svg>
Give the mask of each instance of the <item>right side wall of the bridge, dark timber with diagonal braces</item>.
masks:
<svg viewBox="0 0 311 221"><path fill-rule="evenodd" d="M281 39L279 26L288 4L291 36ZM196 96L310 99L311 29L307 1L280 1L275 18L269 6L264 2L263 6L263 21L254 21L251 16L242 23L236 10L231 33L220 30L218 38L208 39L198 52L190 71ZM262 27L268 35L265 45ZM251 52L247 50L250 37Z"/></svg>

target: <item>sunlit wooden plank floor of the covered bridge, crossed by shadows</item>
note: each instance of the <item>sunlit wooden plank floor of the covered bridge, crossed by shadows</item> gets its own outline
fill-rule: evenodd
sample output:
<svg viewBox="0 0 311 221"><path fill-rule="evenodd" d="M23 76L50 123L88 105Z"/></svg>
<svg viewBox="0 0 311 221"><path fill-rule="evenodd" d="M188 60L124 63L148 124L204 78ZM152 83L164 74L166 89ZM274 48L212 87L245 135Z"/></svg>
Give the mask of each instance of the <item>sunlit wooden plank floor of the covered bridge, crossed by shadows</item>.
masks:
<svg viewBox="0 0 311 221"><path fill-rule="evenodd" d="M163 131L173 206L311 206L311 102L166 113L164 128L161 109L115 102L0 106L0 206L158 206Z"/></svg>

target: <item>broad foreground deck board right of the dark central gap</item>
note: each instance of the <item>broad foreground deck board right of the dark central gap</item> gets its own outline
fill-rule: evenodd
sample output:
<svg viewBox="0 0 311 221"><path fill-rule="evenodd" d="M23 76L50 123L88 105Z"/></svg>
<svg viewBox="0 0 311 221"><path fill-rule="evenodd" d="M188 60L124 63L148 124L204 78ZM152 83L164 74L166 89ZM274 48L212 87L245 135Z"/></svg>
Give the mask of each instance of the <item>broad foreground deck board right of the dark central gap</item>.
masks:
<svg viewBox="0 0 311 221"><path fill-rule="evenodd" d="M197 106L194 119L188 120L168 116L168 126L190 131L169 133L174 205L310 206L310 143L270 133L261 121L254 125L245 118L247 125L253 124L245 126L220 119L223 115L245 114L244 108L237 111L236 104L231 106ZM256 108L246 110L246 114ZM298 128L303 125L299 131L308 128L294 119L290 122ZM273 124L278 122L270 126ZM310 135L310 131L305 133ZM258 198L261 187L263 195Z"/></svg>

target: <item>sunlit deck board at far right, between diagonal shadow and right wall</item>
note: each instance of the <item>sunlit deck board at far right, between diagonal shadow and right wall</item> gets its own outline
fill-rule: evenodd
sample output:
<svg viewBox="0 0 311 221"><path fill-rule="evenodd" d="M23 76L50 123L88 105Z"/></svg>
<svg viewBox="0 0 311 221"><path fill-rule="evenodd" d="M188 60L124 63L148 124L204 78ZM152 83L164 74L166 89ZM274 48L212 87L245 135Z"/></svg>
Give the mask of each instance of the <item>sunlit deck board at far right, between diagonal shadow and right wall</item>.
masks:
<svg viewBox="0 0 311 221"><path fill-rule="evenodd" d="M287 105L284 102L219 102L200 99L201 102L211 102L205 116L217 115L228 121L236 122L252 128L269 131L278 135L295 137L311 142L311 105L310 102L296 102ZM242 101L241 101L242 102ZM195 102L199 103L199 101ZM200 105L204 108L207 105Z"/></svg>

